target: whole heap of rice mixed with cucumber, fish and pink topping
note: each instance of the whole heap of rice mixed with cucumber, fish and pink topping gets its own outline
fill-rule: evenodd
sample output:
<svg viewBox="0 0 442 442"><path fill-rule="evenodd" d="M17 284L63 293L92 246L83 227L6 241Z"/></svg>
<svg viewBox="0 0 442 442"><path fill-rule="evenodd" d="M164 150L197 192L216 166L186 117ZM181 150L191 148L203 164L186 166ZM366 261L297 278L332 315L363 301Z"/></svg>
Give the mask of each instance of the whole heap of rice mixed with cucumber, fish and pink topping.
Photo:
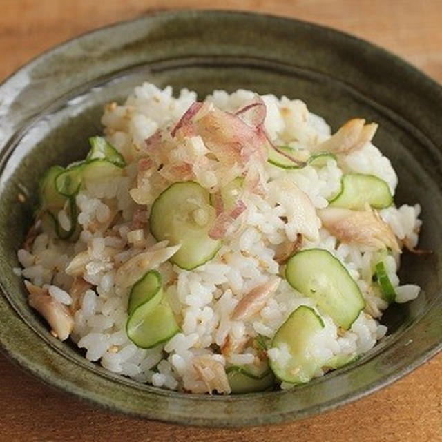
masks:
<svg viewBox="0 0 442 442"><path fill-rule="evenodd" d="M418 296L396 273L420 207L394 205L376 124L332 135L298 99L147 83L102 124L41 178L15 269L89 361L182 392L289 388L368 352L389 303Z"/></svg>

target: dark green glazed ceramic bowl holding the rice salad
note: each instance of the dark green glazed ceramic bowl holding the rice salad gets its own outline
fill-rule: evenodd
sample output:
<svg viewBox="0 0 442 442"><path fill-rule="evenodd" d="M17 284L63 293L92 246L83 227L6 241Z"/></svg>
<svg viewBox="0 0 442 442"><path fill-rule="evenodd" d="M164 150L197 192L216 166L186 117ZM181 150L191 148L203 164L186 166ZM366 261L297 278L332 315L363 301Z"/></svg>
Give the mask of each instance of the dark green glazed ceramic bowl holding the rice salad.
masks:
<svg viewBox="0 0 442 442"><path fill-rule="evenodd" d="M383 316L388 336L356 363L291 391L198 396L140 385L90 363L30 310L16 252L32 222L37 180L86 153L103 105L142 81L251 88L300 98L336 129L376 121L376 145L399 175L396 204L419 202L421 248L402 278L423 293ZM0 87L0 344L13 361L80 398L148 419L207 426L311 416L392 383L442 347L442 88L365 41L300 21L236 12L166 12L91 32L31 61ZM18 193L29 194L26 203Z"/></svg>

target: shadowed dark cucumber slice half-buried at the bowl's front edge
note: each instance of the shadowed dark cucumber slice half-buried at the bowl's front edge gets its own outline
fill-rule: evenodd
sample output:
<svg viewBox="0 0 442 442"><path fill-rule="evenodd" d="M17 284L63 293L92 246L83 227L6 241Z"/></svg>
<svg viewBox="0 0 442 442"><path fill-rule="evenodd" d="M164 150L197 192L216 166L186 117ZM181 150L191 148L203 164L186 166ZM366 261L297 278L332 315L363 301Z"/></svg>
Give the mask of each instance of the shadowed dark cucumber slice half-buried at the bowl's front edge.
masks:
<svg viewBox="0 0 442 442"><path fill-rule="evenodd" d="M244 366L232 365L226 369L227 380L232 393L244 394L263 392L273 386L275 377L267 369L261 376L251 374Z"/></svg>

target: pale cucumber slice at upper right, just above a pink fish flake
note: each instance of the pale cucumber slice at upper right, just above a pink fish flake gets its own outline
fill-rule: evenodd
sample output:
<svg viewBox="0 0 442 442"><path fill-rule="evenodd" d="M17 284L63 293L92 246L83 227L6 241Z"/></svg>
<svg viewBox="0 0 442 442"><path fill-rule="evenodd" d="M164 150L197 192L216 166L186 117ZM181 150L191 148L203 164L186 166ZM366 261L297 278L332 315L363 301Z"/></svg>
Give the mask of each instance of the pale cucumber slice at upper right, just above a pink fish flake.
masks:
<svg viewBox="0 0 442 442"><path fill-rule="evenodd" d="M374 209L391 206L393 197L388 184L374 175L349 173L343 175L340 193L330 201L332 207L361 210L365 204Z"/></svg>

